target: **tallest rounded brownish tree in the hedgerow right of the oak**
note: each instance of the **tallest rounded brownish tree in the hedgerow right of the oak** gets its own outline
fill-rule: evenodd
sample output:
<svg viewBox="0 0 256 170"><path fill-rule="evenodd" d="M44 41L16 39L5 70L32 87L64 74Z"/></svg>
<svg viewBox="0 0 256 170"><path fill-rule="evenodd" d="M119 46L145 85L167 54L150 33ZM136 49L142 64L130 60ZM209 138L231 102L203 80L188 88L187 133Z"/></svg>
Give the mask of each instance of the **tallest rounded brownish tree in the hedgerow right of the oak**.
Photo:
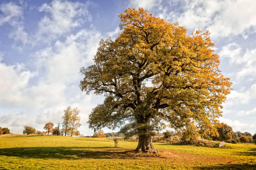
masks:
<svg viewBox="0 0 256 170"><path fill-rule="evenodd" d="M215 136L214 139L218 139L218 140L229 140L232 138L232 128L225 124L225 123L218 123L218 125L216 125L217 131L219 133L219 137Z"/></svg>

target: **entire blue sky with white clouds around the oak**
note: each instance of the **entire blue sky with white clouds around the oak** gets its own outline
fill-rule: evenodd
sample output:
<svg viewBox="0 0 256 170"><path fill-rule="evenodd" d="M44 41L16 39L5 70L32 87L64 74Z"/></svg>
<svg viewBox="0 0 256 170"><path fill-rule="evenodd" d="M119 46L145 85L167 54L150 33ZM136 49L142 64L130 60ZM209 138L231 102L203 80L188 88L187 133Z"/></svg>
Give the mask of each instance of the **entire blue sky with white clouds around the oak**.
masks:
<svg viewBox="0 0 256 170"><path fill-rule="evenodd" d="M210 30L220 70L234 89L219 120L254 134L254 0L1 0L0 126L12 133L22 133L25 125L43 130L47 122L61 122L70 105L81 110L80 133L92 135L88 115L104 97L80 91L79 68L92 64L101 38L118 35L117 14L128 7L143 7L188 32Z"/></svg>

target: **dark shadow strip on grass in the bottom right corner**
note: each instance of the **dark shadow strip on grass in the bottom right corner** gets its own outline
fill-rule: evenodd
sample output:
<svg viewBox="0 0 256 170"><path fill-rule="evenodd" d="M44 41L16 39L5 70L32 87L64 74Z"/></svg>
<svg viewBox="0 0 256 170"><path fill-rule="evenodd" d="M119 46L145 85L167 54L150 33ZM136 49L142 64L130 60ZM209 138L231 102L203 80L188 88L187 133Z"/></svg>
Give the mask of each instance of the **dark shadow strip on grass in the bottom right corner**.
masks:
<svg viewBox="0 0 256 170"><path fill-rule="evenodd" d="M220 164L215 166L195 167L196 170L256 170L256 164Z"/></svg>

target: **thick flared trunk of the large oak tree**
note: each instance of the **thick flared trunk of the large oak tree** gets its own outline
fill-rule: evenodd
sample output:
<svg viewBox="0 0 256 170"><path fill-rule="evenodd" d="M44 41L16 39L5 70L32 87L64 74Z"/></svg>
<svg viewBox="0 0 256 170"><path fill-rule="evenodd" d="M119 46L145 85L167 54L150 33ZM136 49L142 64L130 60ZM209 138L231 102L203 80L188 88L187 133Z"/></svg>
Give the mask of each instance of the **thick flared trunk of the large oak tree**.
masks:
<svg viewBox="0 0 256 170"><path fill-rule="evenodd" d="M151 136L139 136L138 146L135 153L158 153L159 151L153 147Z"/></svg>

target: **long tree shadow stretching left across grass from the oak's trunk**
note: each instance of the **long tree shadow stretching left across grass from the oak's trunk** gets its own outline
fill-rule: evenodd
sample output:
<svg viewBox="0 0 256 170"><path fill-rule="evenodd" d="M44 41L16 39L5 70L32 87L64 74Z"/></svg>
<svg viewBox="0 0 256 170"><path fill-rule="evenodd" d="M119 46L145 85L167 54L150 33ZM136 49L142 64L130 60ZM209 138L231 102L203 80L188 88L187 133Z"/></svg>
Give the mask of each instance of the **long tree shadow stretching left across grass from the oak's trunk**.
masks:
<svg viewBox="0 0 256 170"><path fill-rule="evenodd" d="M40 159L143 159L154 154L136 154L133 150L110 147L30 147L1 148L0 155Z"/></svg>

